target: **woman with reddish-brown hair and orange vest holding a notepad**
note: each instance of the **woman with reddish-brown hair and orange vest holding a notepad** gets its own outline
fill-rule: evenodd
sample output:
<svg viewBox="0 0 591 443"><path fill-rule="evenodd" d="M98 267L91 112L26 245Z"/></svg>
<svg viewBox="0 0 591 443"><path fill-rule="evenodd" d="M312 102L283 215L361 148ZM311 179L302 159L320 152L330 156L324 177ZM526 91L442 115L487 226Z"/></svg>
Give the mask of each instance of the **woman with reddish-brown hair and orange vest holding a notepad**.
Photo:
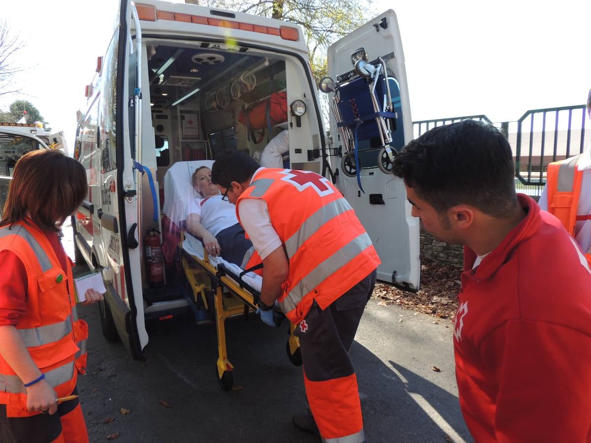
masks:
<svg viewBox="0 0 591 443"><path fill-rule="evenodd" d="M30 152L15 167L0 222L2 442L88 441L76 390L88 326L58 236L86 192L86 171L60 151ZM103 298L94 289L85 296L85 304Z"/></svg>

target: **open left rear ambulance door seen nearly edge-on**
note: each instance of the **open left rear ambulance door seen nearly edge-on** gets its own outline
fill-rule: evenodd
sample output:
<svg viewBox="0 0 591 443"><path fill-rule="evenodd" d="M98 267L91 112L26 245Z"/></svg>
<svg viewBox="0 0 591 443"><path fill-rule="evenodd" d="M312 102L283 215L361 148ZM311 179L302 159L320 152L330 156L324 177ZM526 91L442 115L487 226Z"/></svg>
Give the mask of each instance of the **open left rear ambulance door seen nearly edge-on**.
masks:
<svg viewBox="0 0 591 443"><path fill-rule="evenodd" d="M132 17L134 4L121 0L119 11L119 44L116 67L116 177L111 183L105 177L105 193L116 188L118 233L111 233L113 242L121 248L120 275L116 276L118 299L111 300L113 319L119 337L131 351L134 359L142 358L142 351L148 344L145 330L144 299L142 293L141 269L141 210L138 203L141 197L141 173L135 169L134 162L141 164L141 30L137 13ZM138 69L139 65L139 69ZM148 114L148 118L150 115ZM107 180L109 178L109 180ZM141 201L141 200L139 200ZM114 203L114 202L111 202ZM106 222L105 224L111 224ZM112 248L111 248L112 249ZM112 257L116 255L112 253ZM116 251L119 252L119 251ZM113 275L115 277L115 275ZM113 279L115 283L115 279ZM123 302L123 303L122 303Z"/></svg>

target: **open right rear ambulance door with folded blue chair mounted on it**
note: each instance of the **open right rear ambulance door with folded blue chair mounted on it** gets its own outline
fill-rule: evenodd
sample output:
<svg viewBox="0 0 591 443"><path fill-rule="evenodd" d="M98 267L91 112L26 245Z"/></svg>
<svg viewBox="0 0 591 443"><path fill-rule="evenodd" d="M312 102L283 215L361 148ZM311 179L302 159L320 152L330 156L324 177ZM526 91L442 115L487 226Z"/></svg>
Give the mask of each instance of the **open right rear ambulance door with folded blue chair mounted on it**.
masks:
<svg viewBox="0 0 591 443"><path fill-rule="evenodd" d="M353 63L359 54L365 54L365 59L374 65L378 63L379 57L385 61L390 96L397 112L390 145L400 150L413 138L413 123L400 30L394 11L378 15L330 46L329 77L334 80L346 77L353 70ZM332 100L333 95L328 95L329 100ZM341 168L345 146L332 112L330 133L332 149L329 149L329 159L335 172ZM362 141L359 141L359 145L362 145ZM342 148L340 153L339 148ZM377 151L362 155L360 175L365 193L359 189L357 178L348 177L343 171L339 171L336 185L355 209L378 251L382 260L378 267L378 279L418 290L421 269L419 221L411 216L404 183L400 178L385 174L378 168Z"/></svg>

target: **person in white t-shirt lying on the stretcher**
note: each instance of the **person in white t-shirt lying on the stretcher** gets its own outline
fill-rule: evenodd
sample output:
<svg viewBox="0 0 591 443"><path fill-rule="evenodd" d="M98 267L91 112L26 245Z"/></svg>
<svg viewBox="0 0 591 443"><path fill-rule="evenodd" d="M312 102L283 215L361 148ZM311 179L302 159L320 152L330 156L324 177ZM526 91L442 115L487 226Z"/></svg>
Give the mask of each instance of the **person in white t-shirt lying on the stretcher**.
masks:
<svg viewBox="0 0 591 443"><path fill-rule="evenodd" d="M222 198L217 186L212 183L212 171L206 166L197 168L191 181L203 198L191 202L187 230L203 239L207 253L219 255L245 269L254 248L236 220L235 207Z"/></svg>

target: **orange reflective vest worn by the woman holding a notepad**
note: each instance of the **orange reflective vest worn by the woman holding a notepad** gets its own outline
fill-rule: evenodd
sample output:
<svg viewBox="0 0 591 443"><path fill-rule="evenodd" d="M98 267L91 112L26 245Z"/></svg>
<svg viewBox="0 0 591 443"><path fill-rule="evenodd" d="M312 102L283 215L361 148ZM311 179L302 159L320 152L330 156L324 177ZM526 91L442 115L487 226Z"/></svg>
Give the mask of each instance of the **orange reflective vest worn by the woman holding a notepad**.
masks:
<svg viewBox="0 0 591 443"><path fill-rule="evenodd" d="M88 337L88 325L76 313L72 268L61 269L47 237L32 223L0 227L2 250L17 255L27 270L27 312L18 320L17 331L57 396L70 395L77 373L86 372ZM0 404L7 405L7 416L38 413L27 411L24 383L30 381L21 380L0 356Z"/></svg>

